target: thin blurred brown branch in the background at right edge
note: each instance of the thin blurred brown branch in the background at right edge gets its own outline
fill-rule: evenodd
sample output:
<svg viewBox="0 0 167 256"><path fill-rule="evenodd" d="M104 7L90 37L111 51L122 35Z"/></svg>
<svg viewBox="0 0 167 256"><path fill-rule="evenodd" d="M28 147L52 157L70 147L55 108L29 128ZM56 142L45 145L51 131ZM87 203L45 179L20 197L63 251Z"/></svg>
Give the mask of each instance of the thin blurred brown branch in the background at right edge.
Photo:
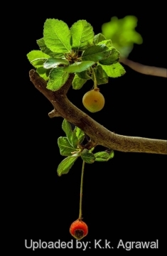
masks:
<svg viewBox="0 0 167 256"><path fill-rule="evenodd" d="M126 58L120 58L120 63L124 63L125 65L128 65L129 68L132 68L133 70L144 74L144 75L155 75L162 78L167 78L167 69L166 68L157 68L153 66L148 65L142 65L140 63L136 63L132 60L126 59Z"/></svg>

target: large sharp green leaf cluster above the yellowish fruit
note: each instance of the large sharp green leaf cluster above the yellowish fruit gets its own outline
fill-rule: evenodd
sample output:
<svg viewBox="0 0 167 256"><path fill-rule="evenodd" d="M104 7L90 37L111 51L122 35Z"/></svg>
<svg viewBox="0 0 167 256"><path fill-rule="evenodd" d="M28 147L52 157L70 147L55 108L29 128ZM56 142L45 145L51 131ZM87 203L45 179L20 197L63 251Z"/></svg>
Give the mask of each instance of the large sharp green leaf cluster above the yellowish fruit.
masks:
<svg viewBox="0 0 167 256"><path fill-rule="evenodd" d="M37 40L40 50L31 50L28 60L47 82L47 88L59 90L75 73L72 87L80 89L87 80L97 85L106 84L108 78L118 78L125 70L119 63L119 51L111 39L102 33L95 35L85 20L71 28L61 20L48 18L44 23L43 38Z"/></svg>

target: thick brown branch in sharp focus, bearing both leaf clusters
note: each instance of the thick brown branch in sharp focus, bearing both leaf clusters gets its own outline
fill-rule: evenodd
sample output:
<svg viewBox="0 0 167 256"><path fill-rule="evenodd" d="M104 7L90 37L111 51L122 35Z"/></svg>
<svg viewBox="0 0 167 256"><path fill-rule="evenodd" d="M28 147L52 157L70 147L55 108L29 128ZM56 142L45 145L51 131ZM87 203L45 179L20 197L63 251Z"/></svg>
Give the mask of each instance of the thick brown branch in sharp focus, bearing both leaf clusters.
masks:
<svg viewBox="0 0 167 256"><path fill-rule="evenodd" d="M102 145L109 149L124 152L143 152L152 154L167 154L167 141L161 139L147 139L141 137L127 137L110 132L85 112L79 110L68 100L66 93L72 84L74 74L70 74L68 81L56 92L46 88L47 83L35 70L30 73L31 82L52 103L59 116L67 119L75 126L82 129L91 138L91 145Z"/></svg>

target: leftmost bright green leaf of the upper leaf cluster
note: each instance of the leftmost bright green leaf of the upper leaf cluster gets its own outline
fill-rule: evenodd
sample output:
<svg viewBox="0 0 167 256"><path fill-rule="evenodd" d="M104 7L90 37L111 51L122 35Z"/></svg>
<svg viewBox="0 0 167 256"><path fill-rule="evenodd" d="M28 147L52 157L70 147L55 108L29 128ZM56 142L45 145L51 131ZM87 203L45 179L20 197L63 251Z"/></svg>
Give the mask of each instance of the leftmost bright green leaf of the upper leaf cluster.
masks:
<svg viewBox="0 0 167 256"><path fill-rule="evenodd" d="M28 60L35 68L40 68L43 66L41 59L47 60L49 57L50 56L48 54L43 53L41 50L31 50L31 52L27 54Z"/></svg>

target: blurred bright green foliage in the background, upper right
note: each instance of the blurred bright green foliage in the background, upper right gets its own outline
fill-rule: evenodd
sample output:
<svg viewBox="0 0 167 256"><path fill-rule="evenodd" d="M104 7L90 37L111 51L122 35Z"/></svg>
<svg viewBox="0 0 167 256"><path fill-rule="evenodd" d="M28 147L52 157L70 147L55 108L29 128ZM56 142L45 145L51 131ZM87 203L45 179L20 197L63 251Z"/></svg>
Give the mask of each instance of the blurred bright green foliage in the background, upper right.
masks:
<svg viewBox="0 0 167 256"><path fill-rule="evenodd" d="M137 21L136 16L125 16L120 19L114 16L111 21L102 24L102 34L112 40L114 48L119 50L122 58L128 58L134 43L143 43L143 38L135 31Z"/></svg>

